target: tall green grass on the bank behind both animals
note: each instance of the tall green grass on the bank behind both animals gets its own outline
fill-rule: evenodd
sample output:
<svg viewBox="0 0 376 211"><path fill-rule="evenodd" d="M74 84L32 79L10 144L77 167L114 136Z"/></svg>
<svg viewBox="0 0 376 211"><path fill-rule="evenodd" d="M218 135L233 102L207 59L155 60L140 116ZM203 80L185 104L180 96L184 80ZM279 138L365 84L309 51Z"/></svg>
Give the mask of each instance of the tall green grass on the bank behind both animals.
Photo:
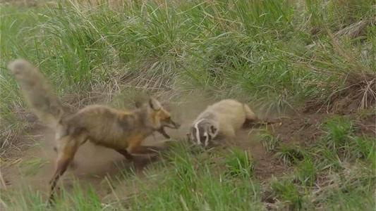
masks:
<svg viewBox="0 0 376 211"><path fill-rule="evenodd" d="M308 23L335 32L372 18L372 1L126 1L119 8L99 2L63 1L37 11L1 6L2 66L28 58L60 94L115 80L149 89L205 89L281 110L329 95L332 87L322 84L352 67L327 32L312 34ZM365 43L344 44L344 51L371 44L368 29ZM375 70L372 56L369 51L360 64ZM4 81L11 80L3 71ZM3 89L12 86L13 99L10 83Z"/></svg>

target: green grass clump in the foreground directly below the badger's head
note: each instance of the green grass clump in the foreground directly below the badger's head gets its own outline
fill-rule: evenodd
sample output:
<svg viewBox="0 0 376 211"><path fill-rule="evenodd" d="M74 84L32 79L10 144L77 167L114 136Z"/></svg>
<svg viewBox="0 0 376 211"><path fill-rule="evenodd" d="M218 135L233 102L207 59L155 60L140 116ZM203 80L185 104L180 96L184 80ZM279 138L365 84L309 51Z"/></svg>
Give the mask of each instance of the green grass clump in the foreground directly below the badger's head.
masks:
<svg viewBox="0 0 376 211"><path fill-rule="evenodd" d="M206 156L192 157L186 148L174 148L171 163L164 166L168 169L166 174L152 172L157 174L153 181L158 185L150 189L150 184L140 184L145 194L131 200L134 200L133 209L248 210L261 207L260 184L250 177L247 155L243 152L231 155L223 165L215 165ZM142 203L145 200L149 203Z"/></svg>

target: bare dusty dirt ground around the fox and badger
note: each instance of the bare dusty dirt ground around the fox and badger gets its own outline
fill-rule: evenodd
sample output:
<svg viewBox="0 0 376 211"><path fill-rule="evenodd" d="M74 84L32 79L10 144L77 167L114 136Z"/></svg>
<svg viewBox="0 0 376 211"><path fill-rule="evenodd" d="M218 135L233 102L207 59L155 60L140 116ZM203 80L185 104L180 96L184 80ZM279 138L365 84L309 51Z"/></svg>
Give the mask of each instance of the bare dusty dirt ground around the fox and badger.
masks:
<svg viewBox="0 0 376 211"><path fill-rule="evenodd" d="M184 103L173 105L173 116L182 126L178 130L168 130L173 139L184 139L190 122L193 121L199 111L204 109L210 102ZM188 108L193 108L188 109ZM183 111L183 112L181 112ZM284 117L276 124L270 124L269 130L274 136L279 136L286 144L299 144L305 146L317 140L322 134L320 124L329 113L298 113ZM367 127L368 132L375 134L375 115L368 115L360 118L359 127ZM23 148L22 151L12 154L1 160L1 175L4 180L4 191L30 186L33 190L47 193L48 181L54 172L56 153L54 148L54 134L50 129L35 124L28 135L23 136L25 143L30 143L31 147ZM363 131L363 130L362 130ZM163 136L155 133L145 140L146 145L158 145L163 143ZM238 132L238 141L234 143L238 148L250 151L255 160L255 177L262 181L274 176L281 176L291 169L274 157L273 153L265 151L261 142L257 140L257 128L246 128ZM107 177L116 177L122 171L131 169L131 163L127 162L122 155L115 151L95 146L90 142L81 146L75 155L72 167L63 175L61 181L64 188L72 188L73 182L78 180L83 188L85 184L94 186L101 197L111 193L109 180ZM138 173L142 177L142 173ZM124 190L137 191L133 188L121 188Z"/></svg>

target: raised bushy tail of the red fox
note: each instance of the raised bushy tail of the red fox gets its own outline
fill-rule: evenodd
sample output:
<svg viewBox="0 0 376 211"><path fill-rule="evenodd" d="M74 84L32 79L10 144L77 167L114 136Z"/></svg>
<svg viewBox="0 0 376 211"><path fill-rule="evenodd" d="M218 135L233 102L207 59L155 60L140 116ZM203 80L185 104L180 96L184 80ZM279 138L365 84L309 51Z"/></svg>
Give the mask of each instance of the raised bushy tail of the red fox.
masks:
<svg viewBox="0 0 376 211"><path fill-rule="evenodd" d="M40 71L27 60L13 60L8 65L32 111L51 128L56 128L64 115L59 98Z"/></svg>

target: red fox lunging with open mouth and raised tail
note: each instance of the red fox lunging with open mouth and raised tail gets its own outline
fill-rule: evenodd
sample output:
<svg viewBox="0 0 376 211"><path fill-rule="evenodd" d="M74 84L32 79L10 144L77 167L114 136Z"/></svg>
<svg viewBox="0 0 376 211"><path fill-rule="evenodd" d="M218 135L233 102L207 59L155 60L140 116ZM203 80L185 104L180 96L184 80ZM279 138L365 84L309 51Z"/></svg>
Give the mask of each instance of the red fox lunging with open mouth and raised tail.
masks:
<svg viewBox="0 0 376 211"><path fill-rule="evenodd" d="M56 171L50 181L49 201L54 198L54 188L66 171L75 152L86 141L113 148L126 159L133 153L153 153L154 147L141 146L142 140L152 132L164 132L164 127L178 129L171 114L155 98L138 103L134 110L116 110L107 106L92 105L67 113L59 99L52 93L44 76L26 60L14 60L8 68L16 77L28 104L39 117L56 132L58 158Z"/></svg>

